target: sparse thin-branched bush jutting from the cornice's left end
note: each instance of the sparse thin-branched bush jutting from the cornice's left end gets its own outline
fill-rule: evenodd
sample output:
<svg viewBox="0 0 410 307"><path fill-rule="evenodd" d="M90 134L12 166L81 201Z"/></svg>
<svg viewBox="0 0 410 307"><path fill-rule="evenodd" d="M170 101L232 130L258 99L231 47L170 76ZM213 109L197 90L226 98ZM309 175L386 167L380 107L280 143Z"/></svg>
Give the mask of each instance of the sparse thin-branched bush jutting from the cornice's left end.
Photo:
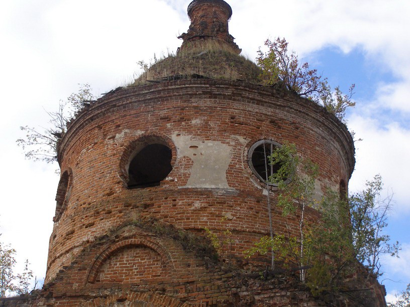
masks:
<svg viewBox="0 0 410 307"><path fill-rule="evenodd" d="M60 100L58 110L47 112L48 127L21 126L26 132L25 138L19 138L17 144L23 148L27 159L52 163L57 161L57 142L67 130L67 122L81 110L84 104L94 100L89 84L79 84L78 93L72 93L66 100Z"/></svg>

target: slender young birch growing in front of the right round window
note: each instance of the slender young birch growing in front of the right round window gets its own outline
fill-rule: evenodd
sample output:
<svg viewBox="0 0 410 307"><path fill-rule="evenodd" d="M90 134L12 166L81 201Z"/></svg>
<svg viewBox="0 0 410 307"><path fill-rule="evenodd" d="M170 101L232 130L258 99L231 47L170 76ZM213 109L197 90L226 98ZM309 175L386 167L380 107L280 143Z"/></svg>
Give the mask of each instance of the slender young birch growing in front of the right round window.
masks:
<svg viewBox="0 0 410 307"><path fill-rule="evenodd" d="M269 164L279 166L277 172L269 177L269 182L278 187L277 206L282 208L283 216L290 215L297 221L299 235L263 237L246 253L248 256L257 252L266 254L270 248L272 257L275 254L275 258L286 266L299 267L300 281L305 282L306 268L312 262L312 235L306 229L305 210L317 203L313 193L319 168L312 161L301 159L296 146L288 143L274 149L269 156Z"/></svg>

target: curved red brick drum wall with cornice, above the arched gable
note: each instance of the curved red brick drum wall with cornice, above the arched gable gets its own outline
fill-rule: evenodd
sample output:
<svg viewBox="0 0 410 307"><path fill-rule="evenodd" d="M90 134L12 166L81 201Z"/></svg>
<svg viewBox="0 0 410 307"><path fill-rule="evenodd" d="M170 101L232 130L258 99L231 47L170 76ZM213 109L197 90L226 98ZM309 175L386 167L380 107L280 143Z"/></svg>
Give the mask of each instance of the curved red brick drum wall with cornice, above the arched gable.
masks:
<svg viewBox="0 0 410 307"><path fill-rule="evenodd" d="M129 190L127 157L138 139L150 135L172 149L173 170L158 187ZM181 137L188 141L179 142ZM50 238L46 282L82 247L138 216L195 231L229 228L235 233L233 250L241 254L268 229L266 196L247 162L250 146L263 138L295 143L302 157L318 163L322 192L329 186L339 189L340 181L350 178L354 149L346 127L318 105L271 88L184 80L98 100L77 116L59 144L61 169L71 170L72 188ZM190 141L230 148L228 188L185 187L193 161L179 153ZM221 221L224 216L229 219ZM307 219L317 216L310 209ZM283 218L278 208L273 220L277 233L285 232L286 224L297 233L296 221Z"/></svg>

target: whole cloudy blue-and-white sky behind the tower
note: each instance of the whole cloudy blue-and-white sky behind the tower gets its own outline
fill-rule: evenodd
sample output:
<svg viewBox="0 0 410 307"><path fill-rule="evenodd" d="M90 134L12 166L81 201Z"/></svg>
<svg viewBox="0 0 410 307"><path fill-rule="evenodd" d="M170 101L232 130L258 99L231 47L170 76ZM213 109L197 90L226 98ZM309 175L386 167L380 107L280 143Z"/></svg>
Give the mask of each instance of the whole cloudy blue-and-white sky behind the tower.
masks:
<svg viewBox="0 0 410 307"><path fill-rule="evenodd" d="M95 94L132 80L136 62L175 51L186 32L189 0L3 0L0 2L0 233L44 277L55 210L55 165L24 159L20 125L46 125L44 111L89 83ZM255 59L267 38L285 37L299 58L332 86L356 84L347 113L356 132L351 192L380 173L394 193L388 232L402 243L386 258L388 298L410 282L410 6L406 0L230 0L230 33Z"/></svg>

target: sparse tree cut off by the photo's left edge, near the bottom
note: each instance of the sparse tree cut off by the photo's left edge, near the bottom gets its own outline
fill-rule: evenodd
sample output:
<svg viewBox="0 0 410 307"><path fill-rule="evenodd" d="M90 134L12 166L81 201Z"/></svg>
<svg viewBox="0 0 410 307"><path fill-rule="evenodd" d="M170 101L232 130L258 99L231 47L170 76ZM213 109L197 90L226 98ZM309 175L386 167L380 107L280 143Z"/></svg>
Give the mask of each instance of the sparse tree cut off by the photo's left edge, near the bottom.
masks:
<svg viewBox="0 0 410 307"><path fill-rule="evenodd" d="M15 254L16 251L13 248L0 242L0 297L5 297L15 290L13 285Z"/></svg>

